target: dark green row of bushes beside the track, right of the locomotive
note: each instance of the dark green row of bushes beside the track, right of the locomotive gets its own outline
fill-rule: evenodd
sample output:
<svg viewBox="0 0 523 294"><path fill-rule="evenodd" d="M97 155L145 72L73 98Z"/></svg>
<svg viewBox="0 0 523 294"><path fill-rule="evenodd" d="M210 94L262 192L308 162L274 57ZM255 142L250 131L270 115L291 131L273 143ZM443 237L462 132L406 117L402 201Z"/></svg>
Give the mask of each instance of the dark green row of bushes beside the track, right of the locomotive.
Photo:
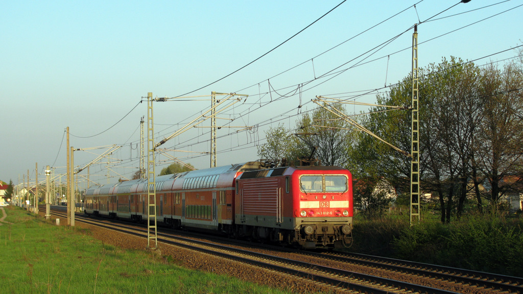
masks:
<svg viewBox="0 0 523 294"><path fill-rule="evenodd" d="M418 224L408 214L379 218L356 214L347 251L523 276L523 219L470 214L450 224L427 214Z"/></svg>

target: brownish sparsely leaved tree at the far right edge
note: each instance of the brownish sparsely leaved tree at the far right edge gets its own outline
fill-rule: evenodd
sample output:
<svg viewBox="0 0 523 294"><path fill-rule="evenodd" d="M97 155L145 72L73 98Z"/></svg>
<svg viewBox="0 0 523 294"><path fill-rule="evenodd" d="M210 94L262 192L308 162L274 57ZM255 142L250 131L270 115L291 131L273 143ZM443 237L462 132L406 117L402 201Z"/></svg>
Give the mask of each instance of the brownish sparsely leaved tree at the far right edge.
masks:
<svg viewBox="0 0 523 294"><path fill-rule="evenodd" d="M482 122L477 132L476 164L490 185L488 200L496 207L508 191L521 190L523 166L523 74L521 64L509 63L503 70L486 67L480 79L479 96L484 100ZM509 181L510 177L515 180Z"/></svg>

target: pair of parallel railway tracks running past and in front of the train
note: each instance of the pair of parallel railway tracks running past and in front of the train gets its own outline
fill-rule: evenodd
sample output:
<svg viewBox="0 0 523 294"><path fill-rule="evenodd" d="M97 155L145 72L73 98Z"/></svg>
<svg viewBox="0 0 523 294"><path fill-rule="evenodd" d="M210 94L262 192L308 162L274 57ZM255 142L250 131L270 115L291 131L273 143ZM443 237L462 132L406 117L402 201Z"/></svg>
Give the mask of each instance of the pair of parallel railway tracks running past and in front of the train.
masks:
<svg viewBox="0 0 523 294"><path fill-rule="evenodd" d="M53 212L58 216L64 217L64 214ZM77 214L77 221L86 222L92 225L98 225L110 230L116 230L139 237L146 236L146 230L129 228L127 225L115 223L100 223L90 218L84 218ZM337 290L346 290L348 292L364 293L459 293L465 291L449 291L453 287L429 287L424 286L423 282L412 283L399 281L390 278L378 277L356 273L347 268L354 268L355 265L370 267L380 271L392 272L400 276L415 277L417 280L428 281L430 285L447 285L452 284L465 288L467 292L484 292L484 293L523 293L523 284L521 278L505 277L501 275L486 274L480 272L471 272L463 269L446 268L434 265L411 263L395 259L387 259L374 256L341 254L341 253L314 253L303 251L285 251L273 252L274 254L253 252L241 248L233 248L228 245L215 244L208 241L198 241L181 236L175 236L170 233L158 233L158 241L189 250L197 250L202 253L226 258L233 261L241 262L273 270L279 273L300 277L306 280L320 282ZM278 256L279 255L279 256ZM287 257L282 257L286 255ZM298 257L301 256L301 257ZM308 258L307 262L303 257ZM328 260L329 266L324 265ZM334 266L333 266L334 264ZM456 288L456 287L454 287Z"/></svg>

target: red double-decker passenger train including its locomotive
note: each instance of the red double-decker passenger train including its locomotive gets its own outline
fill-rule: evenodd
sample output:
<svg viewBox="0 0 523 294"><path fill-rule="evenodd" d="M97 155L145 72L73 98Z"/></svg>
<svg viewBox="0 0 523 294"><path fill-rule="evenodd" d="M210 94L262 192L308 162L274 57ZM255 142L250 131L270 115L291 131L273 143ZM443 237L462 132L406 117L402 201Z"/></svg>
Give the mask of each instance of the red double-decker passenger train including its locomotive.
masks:
<svg viewBox="0 0 523 294"><path fill-rule="evenodd" d="M84 212L143 222L147 183L136 179L91 187ZM161 225L301 248L353 242L353 181L341 167L264 168L246 162L156 176L155 183L153 213Z"/></svg>

